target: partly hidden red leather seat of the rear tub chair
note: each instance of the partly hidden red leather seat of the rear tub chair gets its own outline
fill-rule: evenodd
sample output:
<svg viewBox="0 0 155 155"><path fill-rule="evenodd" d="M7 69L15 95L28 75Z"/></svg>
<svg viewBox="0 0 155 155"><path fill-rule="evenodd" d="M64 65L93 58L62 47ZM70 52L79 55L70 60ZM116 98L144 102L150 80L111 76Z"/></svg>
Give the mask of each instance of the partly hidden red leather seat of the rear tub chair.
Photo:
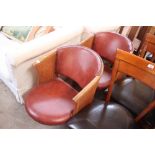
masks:
<svg viewBox="0 0 155 155"><path fill-rule="evenodd" d="M110 84L112 70L108 66L104 66L104 71L99 81L98 89L107 88Z"/></svg>

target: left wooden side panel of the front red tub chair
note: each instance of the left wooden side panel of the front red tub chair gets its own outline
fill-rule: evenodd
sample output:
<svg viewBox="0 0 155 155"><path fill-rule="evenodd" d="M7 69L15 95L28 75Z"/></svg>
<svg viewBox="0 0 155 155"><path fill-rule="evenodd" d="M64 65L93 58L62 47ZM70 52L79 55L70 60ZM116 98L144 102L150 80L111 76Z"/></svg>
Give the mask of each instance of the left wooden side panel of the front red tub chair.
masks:
<svg viewBox="0 0 155 155"><path fill-rule="evenodd" d="M55 78L55 61L56 51L52 51L33 64L38 74L38 84L49 82Z"/></svg>

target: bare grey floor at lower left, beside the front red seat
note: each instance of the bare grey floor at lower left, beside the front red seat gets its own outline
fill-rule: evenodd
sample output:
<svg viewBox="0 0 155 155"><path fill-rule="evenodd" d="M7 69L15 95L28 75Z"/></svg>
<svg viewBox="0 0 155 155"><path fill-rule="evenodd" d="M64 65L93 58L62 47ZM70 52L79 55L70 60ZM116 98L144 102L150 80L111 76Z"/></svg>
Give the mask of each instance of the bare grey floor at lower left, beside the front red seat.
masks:
<svg viewBox="0 0 155 155"><path fill-rule="evenodd" d="M34 121L17 103L14 95L0 80L0 128L1 129L64 129L65 125L48 126Z"/></svg>

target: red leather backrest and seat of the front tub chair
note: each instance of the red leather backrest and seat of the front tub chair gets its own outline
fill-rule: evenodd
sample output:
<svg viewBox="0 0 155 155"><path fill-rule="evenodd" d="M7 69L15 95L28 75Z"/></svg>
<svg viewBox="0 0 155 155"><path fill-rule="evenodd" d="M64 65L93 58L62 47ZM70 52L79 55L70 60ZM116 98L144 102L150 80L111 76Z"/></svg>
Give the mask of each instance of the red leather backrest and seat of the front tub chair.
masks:
<svg viewBox="0 0 155 155"><path fill-rule="evenodd" d="M57 50L56 72L75 80L81 87L101 72L102 61L91 49L66 46ZM60 76L61 77L61 76ZM77 91L59 78L40 84L25 97L29 115L44 124L61 124L73 116Z"/></svg>

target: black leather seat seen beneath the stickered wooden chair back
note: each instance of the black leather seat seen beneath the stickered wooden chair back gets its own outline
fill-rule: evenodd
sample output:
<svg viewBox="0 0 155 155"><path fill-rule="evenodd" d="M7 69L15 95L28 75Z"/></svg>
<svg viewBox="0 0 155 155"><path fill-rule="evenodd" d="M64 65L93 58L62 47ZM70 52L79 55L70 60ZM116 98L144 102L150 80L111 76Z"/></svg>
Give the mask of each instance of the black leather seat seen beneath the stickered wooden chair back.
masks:
<svg viewBox="0 0 155 155"><path fill-rule="evenodd" d="M142 82L127 78L114 85L112 98L133 114L139 114L155 98L155 92Z"/></svg>

